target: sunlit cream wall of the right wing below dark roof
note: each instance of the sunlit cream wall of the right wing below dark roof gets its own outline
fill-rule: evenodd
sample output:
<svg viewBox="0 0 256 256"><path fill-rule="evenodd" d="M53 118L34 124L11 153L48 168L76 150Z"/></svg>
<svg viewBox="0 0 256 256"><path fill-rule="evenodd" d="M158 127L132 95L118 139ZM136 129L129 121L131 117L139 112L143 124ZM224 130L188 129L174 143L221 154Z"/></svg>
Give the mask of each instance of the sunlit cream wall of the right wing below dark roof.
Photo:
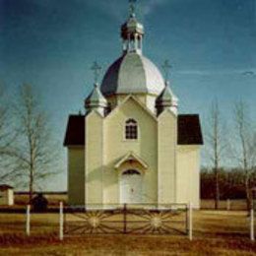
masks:
<svg viewBox="0 0 256 256"><path fill-rule="evenodd" d="M200 147L177 147L177 201L200 207Z"/></svg>

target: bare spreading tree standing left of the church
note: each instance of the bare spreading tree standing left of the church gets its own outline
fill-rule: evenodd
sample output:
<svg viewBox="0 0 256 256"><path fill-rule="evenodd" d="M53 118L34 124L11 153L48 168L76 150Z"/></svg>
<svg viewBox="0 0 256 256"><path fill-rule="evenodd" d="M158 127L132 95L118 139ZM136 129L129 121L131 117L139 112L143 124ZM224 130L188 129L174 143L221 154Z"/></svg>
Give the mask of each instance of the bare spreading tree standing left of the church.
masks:
<svg viewBox="0 0 256 256"><path fill-rule="evenodd" d="M23 85L18 97L14 114L19 136L10 150L10 155L16 161L21 178L29 183L31 202L36 182L56 172L53 171L56 151L52 144L48 119L40 107L38 96L32 91L32 86Z"/></svg>

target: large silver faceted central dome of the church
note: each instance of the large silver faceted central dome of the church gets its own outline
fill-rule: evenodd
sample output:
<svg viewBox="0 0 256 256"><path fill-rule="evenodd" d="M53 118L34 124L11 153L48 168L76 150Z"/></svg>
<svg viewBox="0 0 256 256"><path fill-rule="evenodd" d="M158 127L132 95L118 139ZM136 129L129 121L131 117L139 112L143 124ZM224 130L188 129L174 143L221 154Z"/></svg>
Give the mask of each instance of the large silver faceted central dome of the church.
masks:
<svg viewBox="0 0 256 256"><path fill-rule="evenodd" d="M117 59L107 70L101 84L105 96L118 94L160 95L164 81L159 69L148 58L130 52Z"/></svg>

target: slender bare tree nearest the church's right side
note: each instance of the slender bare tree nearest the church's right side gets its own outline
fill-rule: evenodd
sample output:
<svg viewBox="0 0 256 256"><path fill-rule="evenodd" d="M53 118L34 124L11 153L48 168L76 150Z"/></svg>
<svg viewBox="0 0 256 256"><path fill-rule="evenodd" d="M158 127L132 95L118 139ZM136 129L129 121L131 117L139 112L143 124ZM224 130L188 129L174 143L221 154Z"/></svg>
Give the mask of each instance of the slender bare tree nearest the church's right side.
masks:
<svg viewBox="0 0 256 256"><path fill-rule="evenodd" d="M220 201L219 172L221 160L224 154L225 143L223 136L224 125L222 123L221 112L217 100L213 101L212 103L208 124L208 156L212 162L215 173L215 209L218 209Z"/></svg>

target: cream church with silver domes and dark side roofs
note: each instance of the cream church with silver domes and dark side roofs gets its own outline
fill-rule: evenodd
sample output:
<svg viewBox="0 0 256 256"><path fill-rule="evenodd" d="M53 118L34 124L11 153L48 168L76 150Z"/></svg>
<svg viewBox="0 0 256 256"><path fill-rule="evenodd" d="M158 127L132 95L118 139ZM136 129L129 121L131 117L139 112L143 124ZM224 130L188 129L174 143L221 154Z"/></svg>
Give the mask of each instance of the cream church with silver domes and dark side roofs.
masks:
<svg viewBox="0 0 256 256"><path fill-rule="evenodd" d="M85 115L69 116L64 146L70 205L200 207L199 115L178 113L167 79L143 54L144 36L131 4L121 26L121 56L85 99Z"/></svg>

